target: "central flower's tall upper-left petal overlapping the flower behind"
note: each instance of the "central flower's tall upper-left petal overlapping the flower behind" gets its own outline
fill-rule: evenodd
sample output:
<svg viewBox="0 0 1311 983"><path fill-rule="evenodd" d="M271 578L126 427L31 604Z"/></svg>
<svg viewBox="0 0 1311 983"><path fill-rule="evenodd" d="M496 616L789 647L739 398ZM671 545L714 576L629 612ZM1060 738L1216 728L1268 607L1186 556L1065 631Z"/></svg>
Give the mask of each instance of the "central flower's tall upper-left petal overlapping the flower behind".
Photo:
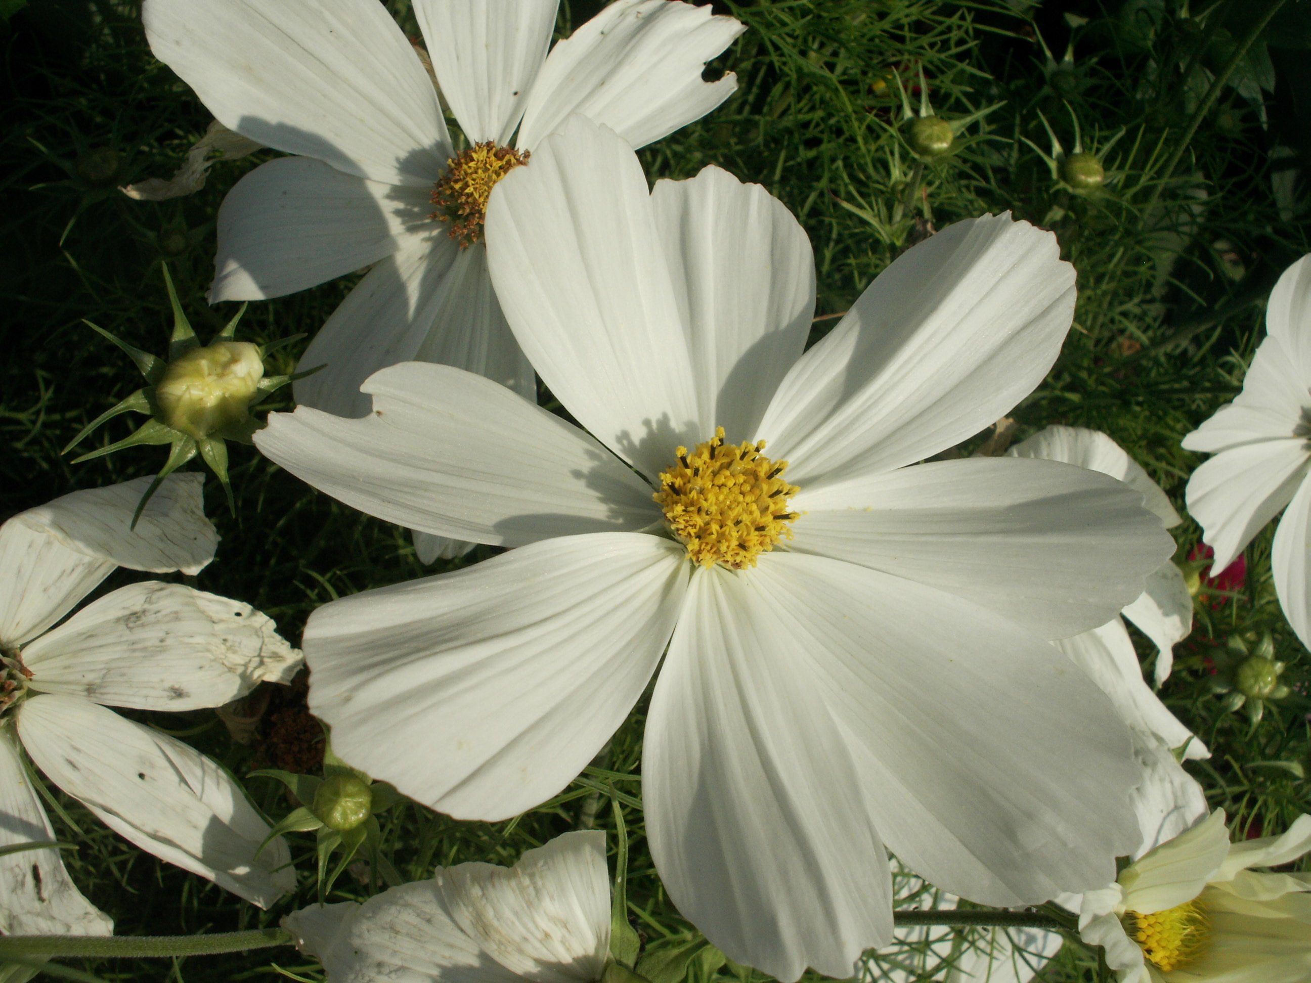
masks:
<svg viewBox="0 0 1311 983"><path fill-rule="evenodd" d="M486 239L515 338L587 431L649 477L678 444L712 436L697 425L687 338L628 144L572 118L497 183Z"/></svg>

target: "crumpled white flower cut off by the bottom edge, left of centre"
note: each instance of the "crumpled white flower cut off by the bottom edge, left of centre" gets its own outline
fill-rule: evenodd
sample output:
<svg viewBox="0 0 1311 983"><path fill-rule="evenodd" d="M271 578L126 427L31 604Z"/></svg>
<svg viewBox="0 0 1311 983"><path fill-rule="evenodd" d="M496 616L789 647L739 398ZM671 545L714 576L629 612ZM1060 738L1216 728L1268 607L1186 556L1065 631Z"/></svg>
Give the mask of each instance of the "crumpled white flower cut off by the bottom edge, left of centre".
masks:
<svg viewBox="0 0 1311 983"><path fill-rule="evenodd" d="M513 868L458 864L363 904L283 920L328 983L594 983L610 952L606 834L566 832Z"/></svg>

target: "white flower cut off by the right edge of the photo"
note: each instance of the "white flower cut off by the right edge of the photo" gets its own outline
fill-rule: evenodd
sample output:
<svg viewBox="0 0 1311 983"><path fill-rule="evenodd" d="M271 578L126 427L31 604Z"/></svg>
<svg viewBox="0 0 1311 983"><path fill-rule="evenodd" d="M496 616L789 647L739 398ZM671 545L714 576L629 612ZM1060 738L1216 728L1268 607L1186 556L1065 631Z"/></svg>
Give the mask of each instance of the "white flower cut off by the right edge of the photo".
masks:
<svg viewBox="0 0 1311 983"><path fill-rule="evenodd" d="M1311 647L1311 256L1283 271L1265 311L1266 338L1243 392L1184 438L1214 453L1188 480L1188 511L1223 570L1280 510L1274 590L1298 638Z"/></svg>

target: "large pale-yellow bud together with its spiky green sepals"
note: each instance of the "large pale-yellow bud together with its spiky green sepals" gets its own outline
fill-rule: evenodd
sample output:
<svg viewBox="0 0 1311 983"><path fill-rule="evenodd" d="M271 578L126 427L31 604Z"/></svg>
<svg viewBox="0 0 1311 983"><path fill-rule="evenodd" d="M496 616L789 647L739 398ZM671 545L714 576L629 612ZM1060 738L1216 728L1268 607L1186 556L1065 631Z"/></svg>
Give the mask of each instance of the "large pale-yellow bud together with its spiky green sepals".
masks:
<svg viewBox="0 0 1311 983"><path fill-rule="evenodd" d="M132 515L134 527L164 478L197 455L218 476L228 497L228 509L235 512L225 442L250 443L250 435L262 426L250 415L250 408L287 383L308 375L264 374L264 359L269 353L303 336L296 334L262 347L235 341L233 336L241 315L245 313L245 304L208 345L202 346L182 312L168 266L163 269L164 284L173 307L173 334L169 338L168 359L142 351L87 321L92 330L109 338L136 363L148 385L110 406L64 448L64 453L68 453L98 426L123 413L149 417L130 436L73 460L73 464L80 464L138 444L169 446L164 467L136 503L136 512Z"/></svg>

